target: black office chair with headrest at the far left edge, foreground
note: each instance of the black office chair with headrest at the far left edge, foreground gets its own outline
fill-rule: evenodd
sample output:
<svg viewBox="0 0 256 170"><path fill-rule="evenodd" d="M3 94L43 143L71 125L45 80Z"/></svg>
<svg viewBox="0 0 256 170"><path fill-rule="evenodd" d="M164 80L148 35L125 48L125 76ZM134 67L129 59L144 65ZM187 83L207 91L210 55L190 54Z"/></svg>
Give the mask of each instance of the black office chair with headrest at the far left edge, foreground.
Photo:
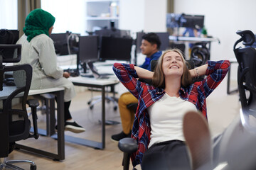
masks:
<svg viewBox="0 0 256 170"><path fill-rule="evenodd" d="M13 55L9 55L9 54ZM32 67L29 64L3 66L2 62L18 62L21 60L21 45L0 45L0 169L21 169L15 163L26 162L31 164L30 169L36 169L36 164L30 160L6 160L14 150L15 142L33 137L38 139L36 107L38 101L27 100L31 86ZM16 86L7 86L4 81L4 72L14 72L21 79L15 80ZM19 98L18 106L14 105L14 98ZM33 133L31 121L26 111L26 103L31 107L33 120Z"/></svg>

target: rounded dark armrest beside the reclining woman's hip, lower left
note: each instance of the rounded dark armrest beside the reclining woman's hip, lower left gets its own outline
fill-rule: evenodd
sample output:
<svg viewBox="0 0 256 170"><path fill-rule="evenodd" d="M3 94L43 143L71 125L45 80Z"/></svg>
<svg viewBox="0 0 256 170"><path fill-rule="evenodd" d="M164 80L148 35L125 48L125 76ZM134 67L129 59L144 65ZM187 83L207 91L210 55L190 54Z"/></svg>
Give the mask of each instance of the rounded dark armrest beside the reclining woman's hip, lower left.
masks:
<svg viewBox="0 0 256 170"><path fill-rule="evenodd" d="M118 147L122 152L128 154L132 154L138 149L137 141L132 137L125 137L122 140L119 140Z"/></svg>

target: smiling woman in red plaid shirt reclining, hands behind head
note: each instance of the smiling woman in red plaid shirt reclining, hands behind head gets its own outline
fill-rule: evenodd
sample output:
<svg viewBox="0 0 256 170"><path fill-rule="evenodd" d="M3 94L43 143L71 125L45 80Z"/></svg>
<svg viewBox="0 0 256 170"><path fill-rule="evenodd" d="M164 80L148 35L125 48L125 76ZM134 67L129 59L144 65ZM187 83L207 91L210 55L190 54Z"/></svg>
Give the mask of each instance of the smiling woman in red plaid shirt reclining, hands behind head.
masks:
<svg viewBox="0 0 256 170"><path fill-rule="evenodd" d="M191 143L190 131L183 131L183 117L189 112L199 112L207 120L206 98L225 78L230 68L228 60L208 61L208 64L188 70L186 60L180 50L166 50L156 64L154 72L134 66L134 64L114 63L113 71L119 81L138 98L138 108L132 128L132 138L137 140L137 152L132 154L132 164L142 165L142 170L150 169L191 169L187 143ZM193 83L193 77L207 77ZM149 85L138 78L152 79ZM191 119L190 119L191 118ZM193 123L195 116L186 117L184 123ZM198 128L198 133L205 130L206 125ZM193 128L191 128L193 131ZM203 133L202 133L203 135ZM210 135L207 135L208 141ZM203 141L195 134L194 140ZM189 146L189 145L188 145ZM201 147L199 143L196 152ZM207 148L205 149L207 150ZM209 149L210 150L210 147ZM207 164L210 152L198 152L196 159ZM204 159L204 160L203 160ZM203 162L201 162L203 160ZM207 168L208 169L208 168Z"/></svg>

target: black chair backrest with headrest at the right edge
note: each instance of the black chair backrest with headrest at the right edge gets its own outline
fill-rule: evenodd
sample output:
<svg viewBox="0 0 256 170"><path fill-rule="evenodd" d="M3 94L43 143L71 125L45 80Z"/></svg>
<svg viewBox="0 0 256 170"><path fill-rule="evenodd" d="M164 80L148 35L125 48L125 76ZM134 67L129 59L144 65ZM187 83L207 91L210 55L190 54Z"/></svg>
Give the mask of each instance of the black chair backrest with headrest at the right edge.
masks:
<svg viewBox="0 0 256 170"><path fill-rule="evenodd" d="M256 111L256 50L250 47L255 35L250 30L238 31L241 38L235 42L234 53L238 60L238 90L243 111ZM239 42L247 47L236 47ZM250 91L249 96L246 91Z"/></svg>

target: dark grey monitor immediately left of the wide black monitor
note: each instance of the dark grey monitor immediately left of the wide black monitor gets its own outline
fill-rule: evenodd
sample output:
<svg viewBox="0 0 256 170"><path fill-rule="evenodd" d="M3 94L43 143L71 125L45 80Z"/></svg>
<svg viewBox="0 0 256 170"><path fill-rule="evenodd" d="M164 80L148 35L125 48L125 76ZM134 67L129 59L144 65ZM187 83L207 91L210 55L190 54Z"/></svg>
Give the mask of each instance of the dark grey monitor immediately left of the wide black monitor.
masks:
<svg viewBox="0 0 256 170"><path fill-rule="evenodd" d="M80 36L78 42L78 60L80 63L98 60L99 37L97 35Z"/></svg>

